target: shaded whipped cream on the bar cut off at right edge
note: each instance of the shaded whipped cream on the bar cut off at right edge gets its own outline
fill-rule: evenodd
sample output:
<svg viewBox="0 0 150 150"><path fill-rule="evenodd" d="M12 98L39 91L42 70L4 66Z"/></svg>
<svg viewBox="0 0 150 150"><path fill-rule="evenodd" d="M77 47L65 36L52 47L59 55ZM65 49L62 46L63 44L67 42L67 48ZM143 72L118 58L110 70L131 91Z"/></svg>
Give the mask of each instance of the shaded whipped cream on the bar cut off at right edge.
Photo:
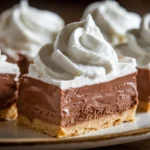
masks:
<svg viewBox="0 0 150 150"><path fill-rule="evenodd" d="M150 69L150 14L142 18L139 29L127 32L127 44L116 46L118 56L136 58L138 67Z"/></svg>

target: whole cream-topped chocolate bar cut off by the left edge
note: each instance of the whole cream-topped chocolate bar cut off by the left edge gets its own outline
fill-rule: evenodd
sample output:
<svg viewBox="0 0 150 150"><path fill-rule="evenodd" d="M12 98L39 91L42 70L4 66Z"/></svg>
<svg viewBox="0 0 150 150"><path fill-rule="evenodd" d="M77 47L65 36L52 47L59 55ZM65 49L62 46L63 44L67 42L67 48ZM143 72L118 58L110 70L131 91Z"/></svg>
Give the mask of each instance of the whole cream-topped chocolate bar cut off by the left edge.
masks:
<svg viewBox="0 0 150 150"><path fill-rule="evenodd" d="M17 117L16 99L19 68L16 64L6 62L7 57L0 54L0 120Z"/></svg>

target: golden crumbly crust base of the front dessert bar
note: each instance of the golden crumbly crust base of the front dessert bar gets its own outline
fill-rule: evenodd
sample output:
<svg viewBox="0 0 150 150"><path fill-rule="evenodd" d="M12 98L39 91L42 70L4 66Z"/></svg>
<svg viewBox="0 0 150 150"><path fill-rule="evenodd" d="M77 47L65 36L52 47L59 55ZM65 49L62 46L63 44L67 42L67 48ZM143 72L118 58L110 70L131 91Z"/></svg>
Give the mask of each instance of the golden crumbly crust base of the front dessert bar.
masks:
<svg viewBox="0 0 150 150"><path fill-rule="evenodd" d="M103 128L108 128L110 126L115 126L123 122L134 121L136 108L137 107L135 106L132 109L126 110L121 114L101 117L100 119L87 121L67 128L54 124L49 124L39 119L34 119L33 122L30 122L29 119L23 115L18 116L18 124L23 127L35 130L37 132L62 138L85 134L90 131Z"/></svg>

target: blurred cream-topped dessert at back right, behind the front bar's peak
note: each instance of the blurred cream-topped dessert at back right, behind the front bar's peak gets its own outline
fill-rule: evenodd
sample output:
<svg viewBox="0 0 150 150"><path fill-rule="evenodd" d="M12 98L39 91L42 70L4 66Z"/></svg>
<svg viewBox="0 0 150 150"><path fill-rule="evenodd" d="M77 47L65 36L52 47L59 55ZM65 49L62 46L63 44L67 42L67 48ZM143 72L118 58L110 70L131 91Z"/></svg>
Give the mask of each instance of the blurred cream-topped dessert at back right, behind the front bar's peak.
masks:
<svg viewBox="0 0 150 150"><path fill-rule="evenodd" d="M126 42L126 31L139 28L141 17L128 12L116 1L106 0L90 4L84 11L82 19L91 14L105 39L112 45Z"/></svg>

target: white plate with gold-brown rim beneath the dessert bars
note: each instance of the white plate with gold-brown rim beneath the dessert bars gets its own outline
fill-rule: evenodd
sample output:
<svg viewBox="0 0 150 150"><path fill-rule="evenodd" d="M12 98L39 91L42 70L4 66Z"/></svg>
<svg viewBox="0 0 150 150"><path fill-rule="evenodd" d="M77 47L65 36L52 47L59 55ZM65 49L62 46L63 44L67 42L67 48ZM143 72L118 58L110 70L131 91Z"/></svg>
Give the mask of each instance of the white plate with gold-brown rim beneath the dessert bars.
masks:
<svg viewBox="0 0 150 150"><path fill-rule="evenodd" d="M7 149L84 149L129 143L150 138L150 113L138 113L136 121L73 138L57 139L18 127L16 121L0 122L0 146ZM2 148L1 148L2 149Z"/></svg>

